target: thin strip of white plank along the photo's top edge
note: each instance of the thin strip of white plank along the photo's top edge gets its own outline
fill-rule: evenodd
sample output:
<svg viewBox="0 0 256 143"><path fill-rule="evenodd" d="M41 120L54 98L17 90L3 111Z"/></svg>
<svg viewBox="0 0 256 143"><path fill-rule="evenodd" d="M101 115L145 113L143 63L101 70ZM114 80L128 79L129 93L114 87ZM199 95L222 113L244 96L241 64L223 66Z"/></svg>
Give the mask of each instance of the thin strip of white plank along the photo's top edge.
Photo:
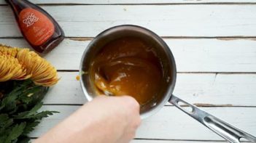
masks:
<svg viewBox="0 0 256 143"><path fill-rule="evenodd" d="M32 0L35 4L201 4L201 3L255 3L253 0ZM4 0L0 4L6 4Z"/></svg>

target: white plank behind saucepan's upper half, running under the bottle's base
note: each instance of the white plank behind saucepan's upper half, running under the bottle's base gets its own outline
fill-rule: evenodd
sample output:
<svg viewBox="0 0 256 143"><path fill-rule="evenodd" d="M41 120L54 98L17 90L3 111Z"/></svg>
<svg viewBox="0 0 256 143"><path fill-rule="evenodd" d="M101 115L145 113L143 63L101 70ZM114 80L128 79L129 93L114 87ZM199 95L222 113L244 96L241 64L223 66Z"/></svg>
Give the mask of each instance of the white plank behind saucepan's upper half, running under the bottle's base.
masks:
<svg viewBox="0 0 256 143"><path fill-rule="evenodd" d="M174 54L178 72L256 72L255 39L164 38L164 40ZM45 58L58 70L79 70L82 53L89 42L66 38ZM28 46L23 39L0 38L0 43Z"/></svg>

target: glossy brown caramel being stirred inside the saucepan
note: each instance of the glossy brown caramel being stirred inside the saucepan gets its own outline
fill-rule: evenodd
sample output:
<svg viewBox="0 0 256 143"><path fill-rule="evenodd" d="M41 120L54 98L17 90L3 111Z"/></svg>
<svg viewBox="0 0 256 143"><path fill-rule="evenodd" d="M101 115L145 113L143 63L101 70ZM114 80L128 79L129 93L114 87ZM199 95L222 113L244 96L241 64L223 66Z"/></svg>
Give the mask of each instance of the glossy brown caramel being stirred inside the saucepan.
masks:
<svg viewBox="0 0 256 143"><path fill-rule="evenodd" d="M90 67L100 94L130 95L140 105L154 99L163 72L154 49L139 38L120 38L106 44Z"/></svg>

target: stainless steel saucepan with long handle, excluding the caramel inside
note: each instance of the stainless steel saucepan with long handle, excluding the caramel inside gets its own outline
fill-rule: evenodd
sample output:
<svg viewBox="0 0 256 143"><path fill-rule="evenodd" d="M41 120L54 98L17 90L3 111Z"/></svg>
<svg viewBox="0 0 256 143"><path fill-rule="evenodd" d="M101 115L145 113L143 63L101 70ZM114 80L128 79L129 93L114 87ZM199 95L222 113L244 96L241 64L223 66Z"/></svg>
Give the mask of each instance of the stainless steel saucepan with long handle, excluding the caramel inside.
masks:
<svg viewBox="0 0 256 143"><path fill-rule="evenodd" d="M82 85L82 90L88 101L97 96L96 91L94 90L94 84L92 81L90 81L90 77L88 75L90 63L105 44L109 43L109 41L113 41L117 38L122 38L125 36L141 38L155 47L158 57L160 57L163 65L163 76L166 79L163 86L161 86L159 96L153 99L151 102L148 102L147 105L141 107L141 118L147 118L150 115L155 114L163 107L163 105L166 105L166 102L170 102L175 107L178 107L180 110L187 113L187 115L195 118L195 120L198 120L198 122L202 123L207 128L210 128L216 134L219 134L229 142L238 143L241 142L241 138L247 139L250 142L256 142L255 136L247 134L246 132L235 128L230 124L225 123L223 120L220 120L219 118L200 110L198 107L191 105L178 97L175 97L172 93L174 91L176 82L177 70L171 50L158 35L150 30L147 30L146 28L141 28L136 25L120 25L104 30L102 33L96 36L96 38L90 42L87 49L85 49L85 52L82 55L79 73L81 77L80 83ZM187 105L188 107L183 107L180 105L180 103ZM190 110L187 110L187 108L190 108Z"/></svg>

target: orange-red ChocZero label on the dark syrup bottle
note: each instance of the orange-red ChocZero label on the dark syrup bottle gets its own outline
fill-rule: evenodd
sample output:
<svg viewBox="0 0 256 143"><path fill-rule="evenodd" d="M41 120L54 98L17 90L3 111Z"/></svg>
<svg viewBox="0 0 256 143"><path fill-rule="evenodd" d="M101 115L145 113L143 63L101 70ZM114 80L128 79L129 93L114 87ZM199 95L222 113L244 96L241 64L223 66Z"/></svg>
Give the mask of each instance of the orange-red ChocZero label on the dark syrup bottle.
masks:
<svg viewBox="0 0 256 143"><path fill-rule="evenodd" d="M27 40L35 46L43 44L53 36L53 23L45 15L35 9L23 9L19 15L19 23Z"/></svg>

